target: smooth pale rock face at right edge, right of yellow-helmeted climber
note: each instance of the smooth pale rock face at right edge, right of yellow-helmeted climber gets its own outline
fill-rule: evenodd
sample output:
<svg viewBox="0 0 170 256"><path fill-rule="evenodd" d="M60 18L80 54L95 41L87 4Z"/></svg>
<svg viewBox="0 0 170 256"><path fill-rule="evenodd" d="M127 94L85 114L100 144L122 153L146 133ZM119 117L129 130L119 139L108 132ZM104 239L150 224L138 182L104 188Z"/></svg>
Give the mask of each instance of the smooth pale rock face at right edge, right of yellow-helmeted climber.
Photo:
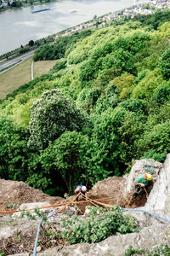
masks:
<svg viewBox="0 0 170 256"><path fill-rule="evenodd" d="M144 209L170 213L170 154L167 154Z"/></svg>

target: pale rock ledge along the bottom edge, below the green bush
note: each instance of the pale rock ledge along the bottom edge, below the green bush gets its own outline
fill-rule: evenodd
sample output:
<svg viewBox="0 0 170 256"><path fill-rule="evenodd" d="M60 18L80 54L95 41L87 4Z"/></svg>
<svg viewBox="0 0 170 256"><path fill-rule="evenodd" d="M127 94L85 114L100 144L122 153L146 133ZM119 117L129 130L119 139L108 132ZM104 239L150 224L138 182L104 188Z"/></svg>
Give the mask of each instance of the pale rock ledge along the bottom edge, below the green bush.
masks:
<svg viewBox="0 0 170 256"><path fill-rule="evenodd" d="M54 247L37 256L124 256L129 246L134 249L151 248L161 244L162 237L170 239L170 229L167 225L152 225L144 228L140 233L120 236L110 236L105 241L95 244L78 244L68 247ZM23 254L24 256L24 254Z"/></svg>

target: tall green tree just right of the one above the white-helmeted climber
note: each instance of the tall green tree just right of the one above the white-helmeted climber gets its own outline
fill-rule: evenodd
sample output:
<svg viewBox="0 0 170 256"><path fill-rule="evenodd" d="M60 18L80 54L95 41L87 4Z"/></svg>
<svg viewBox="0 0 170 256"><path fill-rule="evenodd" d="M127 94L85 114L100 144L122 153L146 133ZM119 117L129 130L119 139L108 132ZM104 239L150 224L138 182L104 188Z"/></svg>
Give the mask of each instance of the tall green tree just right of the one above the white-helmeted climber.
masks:
<svg viewBox="0 0 170 256"><path fill-rule="evenodd" d="M119 176L124 172L124 151L118 128L123 123L125 113L124 108L109 108L94 123L94 162L107 171L108 176Z"/></svg>

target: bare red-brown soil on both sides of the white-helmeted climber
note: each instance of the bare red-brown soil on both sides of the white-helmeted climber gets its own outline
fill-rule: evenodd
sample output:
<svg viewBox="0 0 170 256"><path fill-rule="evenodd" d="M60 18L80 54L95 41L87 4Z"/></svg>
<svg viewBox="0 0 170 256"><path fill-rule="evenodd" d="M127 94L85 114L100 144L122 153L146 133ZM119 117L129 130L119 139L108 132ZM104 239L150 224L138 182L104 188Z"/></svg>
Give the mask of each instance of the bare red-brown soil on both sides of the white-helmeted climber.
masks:
<svg viewBox="0 0 170 256"><path fill-rule="evenodd" d="M126 179L123 177L109 177L97 183L93 189L88 192L90 199L101 199L100 202L120 207L143 207L146 197L133 198L132 194L124 193L124 186ZM103 201L103 198L110 199ZM54 205L59 202L64 202L65 199L59 196L49 196L39 189L29 187L26 183L0 179L0 211L11 210L9 206L20 207L22 203L48 201ZM77 207L83 213L87 205L94 205L94 203L78 204ZM95 203L95 205L99 205Z"/></svg>

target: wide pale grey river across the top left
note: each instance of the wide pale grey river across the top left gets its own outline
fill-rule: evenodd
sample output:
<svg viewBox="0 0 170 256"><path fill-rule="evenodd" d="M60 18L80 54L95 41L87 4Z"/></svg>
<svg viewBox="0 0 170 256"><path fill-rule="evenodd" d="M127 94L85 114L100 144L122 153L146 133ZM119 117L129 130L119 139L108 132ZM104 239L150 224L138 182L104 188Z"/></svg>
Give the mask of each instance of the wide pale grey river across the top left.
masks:
<svg viewBox="0 0 170 256"><path fill-rule="evenodd" d="M94 15L105 15L133 4L133 0L64 0L4 11L0 13L0 55L28 44L30 40L91 20ZM31 13L46 7L50 9ZM77 12L71 12L72 9Z"/></svg>

